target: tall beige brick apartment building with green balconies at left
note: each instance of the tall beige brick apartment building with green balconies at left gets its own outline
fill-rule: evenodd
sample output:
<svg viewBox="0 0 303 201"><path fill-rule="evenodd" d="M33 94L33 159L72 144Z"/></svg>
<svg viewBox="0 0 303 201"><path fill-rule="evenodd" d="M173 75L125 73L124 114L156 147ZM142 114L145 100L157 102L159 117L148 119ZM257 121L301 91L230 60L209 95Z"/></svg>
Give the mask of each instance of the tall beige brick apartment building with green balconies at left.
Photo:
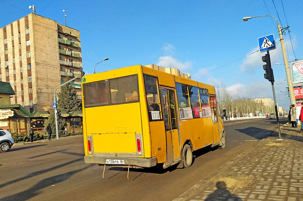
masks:
<svg viewBox="0 0 303 201"><path fill-rule="evenodd" d="M78 30L34 13L0 28L0 81L16 93L11 104L50 110L55 88L81 72ZM72 84L81 96L81 78Z"/></svg>

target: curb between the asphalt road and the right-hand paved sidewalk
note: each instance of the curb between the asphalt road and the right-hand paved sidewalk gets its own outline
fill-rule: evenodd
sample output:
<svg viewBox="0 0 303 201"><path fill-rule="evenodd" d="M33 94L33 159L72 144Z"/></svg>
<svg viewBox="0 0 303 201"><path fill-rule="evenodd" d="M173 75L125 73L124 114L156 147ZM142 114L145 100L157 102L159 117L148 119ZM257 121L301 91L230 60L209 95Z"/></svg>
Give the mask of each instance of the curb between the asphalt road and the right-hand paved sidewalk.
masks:
<svg viewBox="0 0 303 201"><path fill-rule="evenodd" d="M287 123L283 124L283 127L285 127L285 125L287 125ZM274 132L277 132L277 130L278 129L276 129L276 131L274 131ZM185 191L184 193L182 193L180 196L178 196L177 198L173 199L172 201L183 201L183 200L185 200L188 196L190 196L192 193L194 193L194 191L196 189L198 189L203 184L205 184L206 182L208 182L209 180L211 180L213 177L215 177L217 174L219 174L225 168L228 168L228 166L230 166L231 164L237 162L240 158L244 157L249 152L251 152L256 146L258 146L262 142L262 140L264 140L264 139L261 139L258 144L251 146L253 148L251 148L251 147L246 148L246 150L243 153L241 153L240 155L238 155L235 158L233 158L231 161L229 161L229 162L225 163L224 165L222 165L218 170L216 170L215 172L213 172L212 174L210 174L205 179L199 181L197 184L195 184L194 186L192 186L190 189L188 189L187 191Z"/></svg>

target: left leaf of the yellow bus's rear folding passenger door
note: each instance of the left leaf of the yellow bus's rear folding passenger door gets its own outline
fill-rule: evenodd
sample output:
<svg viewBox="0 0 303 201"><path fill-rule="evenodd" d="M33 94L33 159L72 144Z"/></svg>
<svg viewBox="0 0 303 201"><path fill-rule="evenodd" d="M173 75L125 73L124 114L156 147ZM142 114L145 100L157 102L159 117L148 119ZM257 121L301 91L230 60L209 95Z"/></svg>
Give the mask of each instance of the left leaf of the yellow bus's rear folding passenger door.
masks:
<svg viewBox="0 0 303 201"><path fill-rule="evenodd" d="M170 104L168 100L168 90L161 89L162 92L162 106L163 106L163 119L165 125L165 137L166 137L166 165L171 164L174 161L172 136L171 136L171 124L170 124Z"/></svg>

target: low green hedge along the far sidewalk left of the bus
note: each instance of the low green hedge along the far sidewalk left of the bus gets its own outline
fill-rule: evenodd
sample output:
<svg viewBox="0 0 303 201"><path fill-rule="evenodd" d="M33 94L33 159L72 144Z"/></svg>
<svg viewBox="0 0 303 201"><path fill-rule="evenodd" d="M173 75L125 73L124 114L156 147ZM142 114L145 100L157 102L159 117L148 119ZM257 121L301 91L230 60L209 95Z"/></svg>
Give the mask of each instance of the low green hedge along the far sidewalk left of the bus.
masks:
<svg viewBox="0 0 303 201"><path fill-rule="evenodd" d="M65 133L64 135L60 137L66 137L66 136L78 136L78 135L83 135L83 132L70 132L70 133ZM17 142L30 142L29 140L29 135L27 133L12 133L14 143ZM42 139L47 139L47 135L43 135L42 132L34 132L34 141L37 140L42 140ZM51 136L52 139L56 138L56 134L52 133Z"/></svg>

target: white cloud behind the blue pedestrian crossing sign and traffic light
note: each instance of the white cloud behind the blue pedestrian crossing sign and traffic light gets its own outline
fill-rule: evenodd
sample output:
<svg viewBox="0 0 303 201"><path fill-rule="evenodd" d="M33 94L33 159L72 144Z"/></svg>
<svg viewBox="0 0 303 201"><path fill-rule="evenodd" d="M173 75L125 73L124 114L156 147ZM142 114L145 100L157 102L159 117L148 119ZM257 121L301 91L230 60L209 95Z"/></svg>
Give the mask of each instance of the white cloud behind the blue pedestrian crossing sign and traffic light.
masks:
<svg viewBox="0 0 303 201"><path fill-rule="evenodd" d="M280 63L281 59L279 59L282 56L281 51L281 44L280 41L276 41L276 49L273 49L270 51L270 60L271 60L271 66L275 65L275 63ZM259 47L256 47L252 49L249 53L255 52L259 49ZM248 54L249 54L248 53ZM243 60L242 64L240 65L241 72L251 72L254 68L262 68L262 66L265 64L265 62L262 62L262 56L264 56L266 52L256 52L253 53Z"/></svg>

